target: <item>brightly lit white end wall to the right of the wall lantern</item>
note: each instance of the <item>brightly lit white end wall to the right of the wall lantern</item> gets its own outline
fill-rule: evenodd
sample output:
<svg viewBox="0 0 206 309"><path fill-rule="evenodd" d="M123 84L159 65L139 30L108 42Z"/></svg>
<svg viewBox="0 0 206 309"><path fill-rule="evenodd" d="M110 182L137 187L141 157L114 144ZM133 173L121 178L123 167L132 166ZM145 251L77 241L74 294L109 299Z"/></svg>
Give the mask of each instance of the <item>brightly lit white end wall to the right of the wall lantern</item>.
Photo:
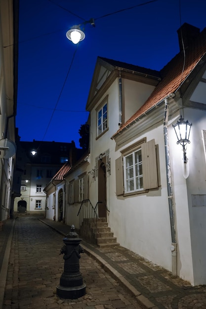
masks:
<svg viewBox="0 0 206 309"><path fill-rule="evenodd" d="M186 182L194 284L199 285L206 284L206 160L202 139L202 130L206 130L206 111L185 109L184 114L185 120L193 123L191 144L187 146L190 174Z"/></svg>

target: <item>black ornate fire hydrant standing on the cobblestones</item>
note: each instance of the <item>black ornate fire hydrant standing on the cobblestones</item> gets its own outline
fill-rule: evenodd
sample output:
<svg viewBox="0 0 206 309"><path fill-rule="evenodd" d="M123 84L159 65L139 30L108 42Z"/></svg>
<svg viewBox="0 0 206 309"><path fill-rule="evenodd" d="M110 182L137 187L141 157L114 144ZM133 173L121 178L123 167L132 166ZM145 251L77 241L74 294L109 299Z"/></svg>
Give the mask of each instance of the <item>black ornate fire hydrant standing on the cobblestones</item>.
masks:
<svg viewBox="0 0 206 309"><path fill-rule="evenodd" d="M64 299L77 299L86 294L86 285L83 283L79 261L80 254L83 253L80 245L82 238L75 232L74 225L63 241L65 245L60 254L64 254L64 272L60 277L60 284L56 287L56 294Z"/></svg>

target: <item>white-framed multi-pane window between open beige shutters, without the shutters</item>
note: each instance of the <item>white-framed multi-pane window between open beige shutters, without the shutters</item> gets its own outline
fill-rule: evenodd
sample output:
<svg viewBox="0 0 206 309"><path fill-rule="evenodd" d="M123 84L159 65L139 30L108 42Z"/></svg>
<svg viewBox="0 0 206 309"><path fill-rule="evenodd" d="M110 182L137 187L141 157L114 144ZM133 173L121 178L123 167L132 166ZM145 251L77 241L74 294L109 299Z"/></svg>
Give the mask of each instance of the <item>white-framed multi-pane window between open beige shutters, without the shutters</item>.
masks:
<svg viewBox="0 0 206 309"><path fill-rule="evenodd" d="M141 148L124 156L124 187L125 193L143 189Z"/></svg>

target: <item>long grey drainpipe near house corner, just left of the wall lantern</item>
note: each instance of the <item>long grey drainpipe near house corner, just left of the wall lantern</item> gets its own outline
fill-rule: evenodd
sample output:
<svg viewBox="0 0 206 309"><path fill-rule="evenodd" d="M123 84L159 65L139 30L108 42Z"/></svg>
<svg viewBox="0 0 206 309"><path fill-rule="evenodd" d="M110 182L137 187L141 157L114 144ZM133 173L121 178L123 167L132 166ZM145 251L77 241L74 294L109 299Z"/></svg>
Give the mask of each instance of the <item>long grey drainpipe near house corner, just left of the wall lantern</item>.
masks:
<svg viewBox="0 0 206 309"><path fill-rule="evenodd" d="M174 204L173 194L171 185L171 169L170 169L170 156L169 156L169 145L168 145L168 98L165 98L165 114L164 114L164 141L165 141L165 161L166 161L166 180L167 180L167 195L168 195L168 206L169 206L169 219L171 229L171 262L172 262L172 274L177 275L177 243L176 243L176 232L175 232L175 220L174 220Z"/></svg>

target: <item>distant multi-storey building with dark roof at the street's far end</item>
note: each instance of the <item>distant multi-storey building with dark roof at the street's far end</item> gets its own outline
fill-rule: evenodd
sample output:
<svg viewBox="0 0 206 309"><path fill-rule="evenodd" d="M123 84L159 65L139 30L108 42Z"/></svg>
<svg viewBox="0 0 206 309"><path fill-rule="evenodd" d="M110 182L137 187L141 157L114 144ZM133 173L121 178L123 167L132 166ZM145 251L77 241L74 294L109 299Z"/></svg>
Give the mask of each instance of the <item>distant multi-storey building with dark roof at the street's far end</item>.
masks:
<svg viewBox="0 0 206 309"><path fill-rule="evenodd" d="M14 199L14 214L45 214L43 189L65 164L73 165L82 150L72 143L20 142L17 160L23 163L21 196ZM63 218L61 218L62 220Z"/></svg>

